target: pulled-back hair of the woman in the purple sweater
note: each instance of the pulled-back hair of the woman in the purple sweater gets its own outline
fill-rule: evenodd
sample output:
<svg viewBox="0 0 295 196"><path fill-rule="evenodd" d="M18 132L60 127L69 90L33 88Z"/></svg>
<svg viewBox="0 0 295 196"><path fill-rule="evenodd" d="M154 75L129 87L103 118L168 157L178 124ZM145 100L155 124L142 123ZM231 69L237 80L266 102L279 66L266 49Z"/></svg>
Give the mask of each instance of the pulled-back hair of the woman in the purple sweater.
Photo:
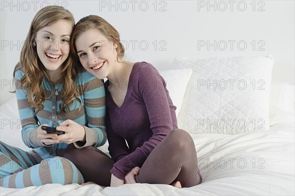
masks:
<svg viewBox="0 0 295 196"><path fill-rule="evenodd" d="M75 28L71 35L71 45L70 45L71 53L72 53L72 56L75 57L76 61L79 61L79 57L77 55L75 41L82 33L88 31L89 29L99 30L101 34L103 34L109 41L116 42L118 44L118 47L116 48L116 51L118 54L117 61L119 61L118 58L121 59L124 57L125 49L120 42L120 35L118 31L116 30L116 28L114 28L111 24L109 24L105 19L101 18L100 16L89 15L82 18L75 25ZM80 63L80 61L77 63Z"/></svg>

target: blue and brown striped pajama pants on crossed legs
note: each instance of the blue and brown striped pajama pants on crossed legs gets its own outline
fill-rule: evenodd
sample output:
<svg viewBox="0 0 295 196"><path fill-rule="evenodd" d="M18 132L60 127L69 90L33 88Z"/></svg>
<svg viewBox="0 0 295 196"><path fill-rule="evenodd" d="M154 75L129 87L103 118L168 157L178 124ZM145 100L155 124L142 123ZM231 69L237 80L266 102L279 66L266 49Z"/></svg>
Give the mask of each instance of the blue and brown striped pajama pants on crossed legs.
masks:
<svg viewBox="0 0 295 196"><path fill-rule="evenodd" d="M25 188L58 183L84 183L81 172L68 159L37 160L29 152L0 141L0 186Z"/></svg>

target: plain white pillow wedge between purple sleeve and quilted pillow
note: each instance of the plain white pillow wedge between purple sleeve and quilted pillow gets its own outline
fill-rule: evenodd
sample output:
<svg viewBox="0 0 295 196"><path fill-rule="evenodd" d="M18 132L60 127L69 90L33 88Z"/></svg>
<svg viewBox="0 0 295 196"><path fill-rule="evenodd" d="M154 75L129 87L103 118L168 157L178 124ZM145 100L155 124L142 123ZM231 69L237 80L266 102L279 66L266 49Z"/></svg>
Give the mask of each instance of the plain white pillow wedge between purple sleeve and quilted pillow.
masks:
<svg viewBox="0 0 295 196"><path fill-rule="evenodd" d="M177 107L176 116L178 116L187 83L192 75L192 69L173 69L159 71L159 73L167 84L166 88L169 91L173 105Z"/></svg>

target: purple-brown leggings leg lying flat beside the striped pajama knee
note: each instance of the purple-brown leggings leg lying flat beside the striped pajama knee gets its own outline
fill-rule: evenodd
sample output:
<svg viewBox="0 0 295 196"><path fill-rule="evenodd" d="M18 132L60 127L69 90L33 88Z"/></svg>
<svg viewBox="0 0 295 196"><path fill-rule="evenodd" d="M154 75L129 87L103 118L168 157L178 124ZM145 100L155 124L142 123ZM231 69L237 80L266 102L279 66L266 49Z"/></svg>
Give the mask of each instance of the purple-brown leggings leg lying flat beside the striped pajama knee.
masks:
<svg viewBox="0 0 295 196"><path fill-rule="evenodd" d="M110 186L111 168L114 161L93 146L76 148L69 144L63 154L80 170L86 182L91 181L101 186Z"/></svg>

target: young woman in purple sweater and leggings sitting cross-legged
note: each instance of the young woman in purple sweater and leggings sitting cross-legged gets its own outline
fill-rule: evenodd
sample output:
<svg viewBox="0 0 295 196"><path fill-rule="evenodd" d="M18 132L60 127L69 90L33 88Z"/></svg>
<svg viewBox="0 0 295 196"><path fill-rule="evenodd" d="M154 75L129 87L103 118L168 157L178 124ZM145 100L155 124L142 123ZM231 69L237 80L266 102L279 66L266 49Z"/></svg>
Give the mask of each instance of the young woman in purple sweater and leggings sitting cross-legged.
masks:
<svg viewBox="0 0 295 196"><path fill-rule="evenodd" d="M71 49L89 73L108 79L106 124L112 159L94 147L70 145L64 153L85 180L102 186L200 184L194 141L177 128L176 107L159 72L147 62L122 60L118 31L99 16L76 24Z"/></svg>

